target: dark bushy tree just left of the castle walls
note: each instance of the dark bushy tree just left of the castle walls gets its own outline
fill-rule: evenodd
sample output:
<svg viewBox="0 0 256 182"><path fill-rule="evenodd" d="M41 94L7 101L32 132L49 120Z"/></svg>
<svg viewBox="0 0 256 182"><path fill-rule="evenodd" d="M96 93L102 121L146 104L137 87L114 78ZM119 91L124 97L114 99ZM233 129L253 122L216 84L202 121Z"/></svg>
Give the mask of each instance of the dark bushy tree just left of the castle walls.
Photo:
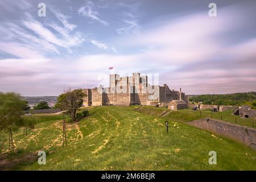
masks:
<svg viewBox="0 0 256 182"><path fill-rule="evenodd" d="M76 111L82 106L84 96L82 89L69 88L57 98L55 108L66 110L72 121L76 121Z"/></svg>

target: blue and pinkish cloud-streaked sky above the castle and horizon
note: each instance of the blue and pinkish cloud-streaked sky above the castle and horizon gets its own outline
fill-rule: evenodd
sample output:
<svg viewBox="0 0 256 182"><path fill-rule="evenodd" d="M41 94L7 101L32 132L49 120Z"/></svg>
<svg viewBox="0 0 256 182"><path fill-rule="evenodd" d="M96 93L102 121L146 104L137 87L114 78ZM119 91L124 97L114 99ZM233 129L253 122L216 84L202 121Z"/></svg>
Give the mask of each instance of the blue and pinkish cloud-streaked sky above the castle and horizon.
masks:
<svg viewBox="0 0 256 182"><path fill-rule="evenodd" d="M253 0L1 0L0 92L57 96L110 73L158 75L186 94L255 91L255 9Z"/></svg>

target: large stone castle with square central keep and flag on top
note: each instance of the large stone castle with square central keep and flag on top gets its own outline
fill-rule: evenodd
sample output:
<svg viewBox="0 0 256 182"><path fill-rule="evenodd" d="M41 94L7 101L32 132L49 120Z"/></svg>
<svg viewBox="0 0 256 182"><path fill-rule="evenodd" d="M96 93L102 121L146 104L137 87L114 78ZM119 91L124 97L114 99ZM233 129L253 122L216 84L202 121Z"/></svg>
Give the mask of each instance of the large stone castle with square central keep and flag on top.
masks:
<svg viewBox="0 0 256 182"><path fill-rule="evenodd" d="M163 86L148 84L148 77L133 73L130 77L110 75L110 87L98 86L84 89L84 106L101 105L160 105L167 106L172 100L188 102L187 96L179 91L171 90L167 84Z"/></svg>

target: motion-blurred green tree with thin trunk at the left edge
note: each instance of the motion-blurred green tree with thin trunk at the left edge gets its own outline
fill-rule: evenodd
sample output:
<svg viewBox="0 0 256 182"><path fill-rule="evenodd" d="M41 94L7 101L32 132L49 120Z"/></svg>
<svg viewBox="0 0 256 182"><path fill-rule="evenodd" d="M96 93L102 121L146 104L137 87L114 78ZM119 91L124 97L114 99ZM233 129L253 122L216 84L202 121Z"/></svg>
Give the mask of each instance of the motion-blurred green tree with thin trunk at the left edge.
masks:
<svg viewBox="0 0 256 182"><path fill-rule="evenodd" d="M26 106L19 94L0 92L0 129L9 133L9 148L14 148L13 126L22 120L23 108Z"/></svg>

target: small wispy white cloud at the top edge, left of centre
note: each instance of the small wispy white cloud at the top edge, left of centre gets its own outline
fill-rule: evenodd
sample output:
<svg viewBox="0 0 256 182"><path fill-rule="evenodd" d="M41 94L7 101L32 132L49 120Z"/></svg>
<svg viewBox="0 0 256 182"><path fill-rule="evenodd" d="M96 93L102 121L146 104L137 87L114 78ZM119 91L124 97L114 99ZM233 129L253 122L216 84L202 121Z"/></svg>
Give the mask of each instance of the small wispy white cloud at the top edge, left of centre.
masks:
<svg viewBox="0 0 256 182"><path fill-rule="evenodd" d="M96 10L94 10L94 3L91 1L86 1L86 5L79 8L78 14L82 15L82 16L86 16L87 18L96 20L96 21L104 24L105 26L107 26L109 24L108 22L106 22L98 17L99 13Z"/></svg>

